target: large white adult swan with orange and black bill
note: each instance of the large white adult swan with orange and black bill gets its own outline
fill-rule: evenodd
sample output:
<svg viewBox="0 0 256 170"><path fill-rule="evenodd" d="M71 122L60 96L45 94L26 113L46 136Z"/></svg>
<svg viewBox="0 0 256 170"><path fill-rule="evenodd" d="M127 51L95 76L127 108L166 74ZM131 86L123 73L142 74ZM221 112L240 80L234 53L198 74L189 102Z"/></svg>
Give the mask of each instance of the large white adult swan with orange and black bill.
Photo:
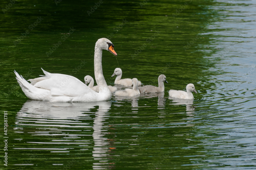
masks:
<svg viewBox="0 0 256 170"><path fill-rule="evenodd" d="M117 56L114 45L106 38L100 38L95 44L94 51L94 74L99 86L99 93L90 89L76 77L65 74L52 74L47 71L44 77L30 79L28 83L16 71L16 79L25 95L33 100L51 102L90 102L111 99L111 92L107 86L102 72L102 49L109 50Z"/></svg>

